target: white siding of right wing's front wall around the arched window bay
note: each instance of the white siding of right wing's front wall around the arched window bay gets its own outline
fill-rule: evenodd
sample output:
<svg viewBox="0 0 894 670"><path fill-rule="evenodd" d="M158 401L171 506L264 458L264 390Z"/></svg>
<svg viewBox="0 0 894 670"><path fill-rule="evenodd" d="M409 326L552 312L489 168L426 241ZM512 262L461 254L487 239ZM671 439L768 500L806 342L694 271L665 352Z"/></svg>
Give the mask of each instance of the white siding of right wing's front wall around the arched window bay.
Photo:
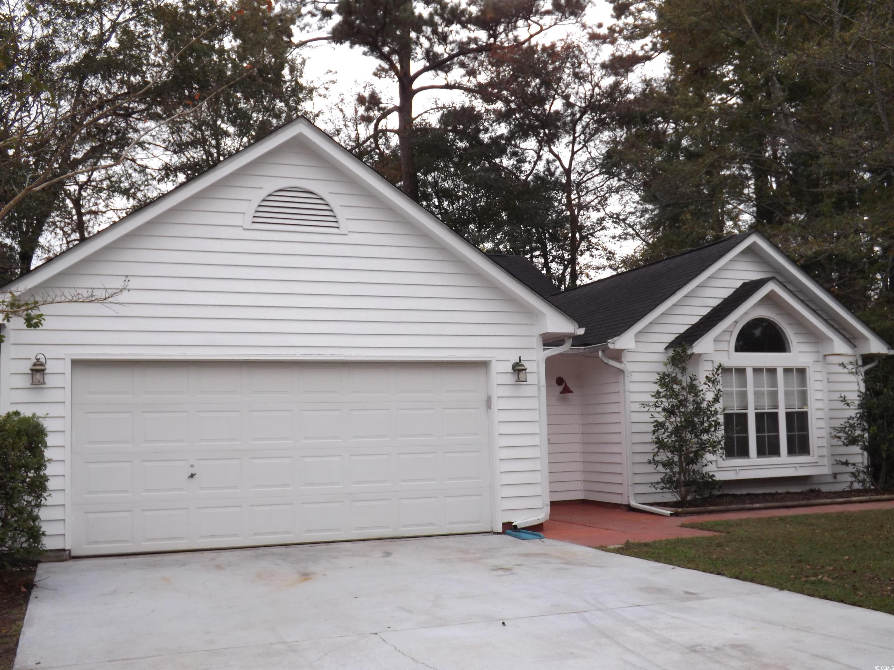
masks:
<svg viewBox="0 0 894 670"><path fill-rule="evenodd" d="M654 468L646 462L652 453L652 423L649 420L648 410L642 406L643 403L651 400L650 394L655 389L657 375L664 369L663 363L667 360L667 352L664 348L692 323L707 314L742 282L767 276L780 279L793 293L805 300L808 306L814 308L833 325L842 328L839 323L830 318L829 314L819 310L817 305L808 301L804 294L785 281L780 272L776 272L771 264L747 249L730 259L699 286L689 291L686 296L681 297L675 305L646 325L642 331L637 333L636 347L625 351L623 357L631 372L628 403L634 453L634 491L637 501L657 502L668 498L667 495L657 492L651 486L652 482L657 481L658 475L654 472ZM776 310L775 314L780 320L786 320L790 332L793 332L795 336L793 344L799 352L798 356L803 356L805 365L811 367L814 386L813 406L811 407L814 421L813 439L815 440L813 448L814 453L820 456L817 459L817 464L822 466L822 473L817 473L817 467L808 468L813 471L812 474L805 474L804 468L801 468L800 471L794 467L778 468L773 473L769 471L761 473L756 468L742 467L738 473L728 473L729 478L727 478L728 474L724 474L724 486L728 490L737 491L791 490L812 487L842 488L847 484L848 479L837 475L847 468L833 465L832 461L848 455L835 440L831 439L831 430L847 415L845 408L840 403L839 396L842 393L849 396L855 395L856 380L839 367L844 356L822 356L820 342L811 331L808 331L800 322L797 322L797 319L793 319L775 303L766 307ZM724 356L725 352L729 352L729 340L730 331L721 333L715 340L715 351L724 352L721 355L715 353L713 359L716 362L726 362ZM700 369L704 372L711 357L703 356L703 358L704 361L701 362ZM853 459L854 455L850 456Z"/></svg>

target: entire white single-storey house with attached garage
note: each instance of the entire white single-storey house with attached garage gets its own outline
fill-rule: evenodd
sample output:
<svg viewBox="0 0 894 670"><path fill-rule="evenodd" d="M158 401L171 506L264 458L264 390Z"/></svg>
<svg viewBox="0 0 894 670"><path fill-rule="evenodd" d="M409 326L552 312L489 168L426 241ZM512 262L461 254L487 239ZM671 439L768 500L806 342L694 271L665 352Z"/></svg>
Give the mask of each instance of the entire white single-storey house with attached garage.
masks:
<svg viewBox="0 0 894 670"><path fill-rule="evenodd" d="M831 436L857 389L840 364L890 353L759 234L558 292L305 120L5 290L125 282L115 304L3 325L0 409L46 416L46 547L75 556L658 501L642 404L679 342L725 366L710 467L728 488L843 487L835 461L859 455Z"/></svg>

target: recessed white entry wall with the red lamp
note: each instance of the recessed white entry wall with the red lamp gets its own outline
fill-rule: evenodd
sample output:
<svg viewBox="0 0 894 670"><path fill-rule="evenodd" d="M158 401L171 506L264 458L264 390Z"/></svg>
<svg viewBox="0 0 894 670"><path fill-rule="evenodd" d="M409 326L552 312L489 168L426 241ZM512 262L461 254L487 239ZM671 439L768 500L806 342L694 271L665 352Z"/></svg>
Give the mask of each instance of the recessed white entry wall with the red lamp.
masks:
<svg viewBox="0 0 894 670"><path fill-rule="evenodd" d="M556 377L573 393L560 395ZM550 498L624 503L622 380L593 356L547 359Z"/></svg>

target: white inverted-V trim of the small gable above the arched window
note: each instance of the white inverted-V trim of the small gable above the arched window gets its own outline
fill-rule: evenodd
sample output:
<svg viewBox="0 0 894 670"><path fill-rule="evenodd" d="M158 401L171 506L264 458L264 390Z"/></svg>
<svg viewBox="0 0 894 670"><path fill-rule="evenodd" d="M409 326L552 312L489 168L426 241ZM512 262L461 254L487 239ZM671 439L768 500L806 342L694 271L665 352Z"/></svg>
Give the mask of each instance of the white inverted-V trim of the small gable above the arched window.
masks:
<svg viewBox="0 0 894 670"><path fill-rule="evenodd" d="M768 281L755 291L753 296L733 310L723 321L706 332L700 339L697 339L692 346L693 352L696 354L713 354L714 339L729 328L731 324L738 322L743 314L747 314L764 297L775 299L789 314L795 316L814 335L820 338L822 340L823 355L843 354L848 356L856 352L854 345L842 333L835 329L831 323L822 319L810 306L806 305L803 300L798 299L797 296L777 280Z"/></svg>

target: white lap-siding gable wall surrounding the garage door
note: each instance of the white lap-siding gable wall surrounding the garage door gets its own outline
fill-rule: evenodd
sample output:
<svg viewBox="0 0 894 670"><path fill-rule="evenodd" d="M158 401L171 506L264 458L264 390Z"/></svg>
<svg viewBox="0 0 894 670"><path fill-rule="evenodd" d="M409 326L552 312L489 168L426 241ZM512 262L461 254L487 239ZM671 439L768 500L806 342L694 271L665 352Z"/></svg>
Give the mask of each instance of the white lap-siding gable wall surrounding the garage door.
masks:
<svg viewBox="0 0 894 670"><path fill-rule="evenodd" d="M288 140L47 285L114 288L126 276L120 305L51 306L39 330L4 326L0 408L44 415L49 430L47 549L66 547L71 361L83 356L488 362L496 519L539 514L536 314L304 142ZM349 233L244 229L252 198L282 179L333 194ZM45 387L30 385L38 352ZM510 372L519 356L525 384Z"/></svg>

